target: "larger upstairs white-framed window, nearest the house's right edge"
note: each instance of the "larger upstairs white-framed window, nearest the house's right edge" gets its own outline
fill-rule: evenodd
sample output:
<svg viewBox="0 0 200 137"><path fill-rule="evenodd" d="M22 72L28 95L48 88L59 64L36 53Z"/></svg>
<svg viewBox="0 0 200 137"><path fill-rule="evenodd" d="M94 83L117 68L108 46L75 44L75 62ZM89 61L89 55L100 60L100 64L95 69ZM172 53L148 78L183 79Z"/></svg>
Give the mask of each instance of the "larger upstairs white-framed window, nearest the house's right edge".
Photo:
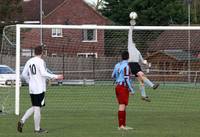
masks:
<svg viewBox="0 0 200 137"><path fill-rule="evenodd" d="M83 42L97 42L97 30L84 29L83 30Z"/></svg>

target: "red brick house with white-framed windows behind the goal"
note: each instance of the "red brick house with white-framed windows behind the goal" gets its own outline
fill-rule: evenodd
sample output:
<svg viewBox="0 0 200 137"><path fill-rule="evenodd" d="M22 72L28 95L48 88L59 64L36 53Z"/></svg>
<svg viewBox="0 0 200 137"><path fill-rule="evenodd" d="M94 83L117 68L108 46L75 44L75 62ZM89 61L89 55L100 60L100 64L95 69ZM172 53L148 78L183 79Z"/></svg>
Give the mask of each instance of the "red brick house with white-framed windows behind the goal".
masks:
<svg viewBox="0 0 200 137"><path fill-rule="evenodd" d="M106 25L110 21L100 15L83 0L43 0L43 24L63 25ZM31 7L35 7L31 9ZM29 7L29 8L28 8ZM39 18L39 1L33 0L24 5L25 20ZM32 13L29 12L33 10ZM37 14L37 15L36 15ZM31 18L32 17L32 18ZM34 19L35 18L35 19ZM49 56L95 56L104 55L103 30L43 29L43 44ZM31 49L40 44L40 30L31 29L23 33L22 54L30 55Z"/></svg>

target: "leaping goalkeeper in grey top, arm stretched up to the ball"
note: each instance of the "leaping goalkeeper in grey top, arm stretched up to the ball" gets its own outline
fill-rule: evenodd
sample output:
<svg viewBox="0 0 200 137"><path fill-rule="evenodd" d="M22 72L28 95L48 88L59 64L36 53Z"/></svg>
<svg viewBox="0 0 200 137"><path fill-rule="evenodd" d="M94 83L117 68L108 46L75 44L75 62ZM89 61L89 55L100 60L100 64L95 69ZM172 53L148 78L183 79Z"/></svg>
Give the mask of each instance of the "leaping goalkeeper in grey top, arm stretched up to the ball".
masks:
<svg viewBox="0 0 200 137"><path fill-rule="evenodd" d="M128 34L128 52L129 52L129 66L131 68L131 72L135 77L138 79L140 83L140 92L141 92L141 99L145 100L147 102L150 102L150 98L146 95L145 92L145 86L144 84L152 87L153 89L157 89L159 84L153 84L142 72L142 69L139 65L139 62L142 62L145 65L148 65L147 60L144 60L140 51L136 48L135 43L132 39L132 30L133 26L131 26L131 29L129 29Z"/></svg>

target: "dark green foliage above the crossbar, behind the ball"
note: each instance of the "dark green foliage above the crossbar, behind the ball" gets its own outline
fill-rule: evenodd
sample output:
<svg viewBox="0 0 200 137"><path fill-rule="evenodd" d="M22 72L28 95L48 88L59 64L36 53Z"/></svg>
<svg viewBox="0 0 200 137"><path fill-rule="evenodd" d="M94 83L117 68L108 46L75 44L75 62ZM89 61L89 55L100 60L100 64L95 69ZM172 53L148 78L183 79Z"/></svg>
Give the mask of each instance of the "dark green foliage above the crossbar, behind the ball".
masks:
<svg viewBox="0 0 200 137"><path fill-rule="evenodd" d="M170 25L187 22L187 11L180 0L104 0L99 11L112 21L129 25L129 13L138 14L137 25Z"/></svg>

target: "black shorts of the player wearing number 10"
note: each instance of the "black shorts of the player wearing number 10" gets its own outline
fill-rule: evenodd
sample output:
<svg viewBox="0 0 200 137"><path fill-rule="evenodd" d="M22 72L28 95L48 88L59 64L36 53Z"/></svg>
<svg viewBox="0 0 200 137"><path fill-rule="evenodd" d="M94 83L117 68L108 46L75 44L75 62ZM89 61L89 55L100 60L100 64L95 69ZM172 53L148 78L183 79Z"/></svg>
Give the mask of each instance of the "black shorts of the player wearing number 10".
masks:
<svg viewBox="0 0 200 137"><path fill-rule="evenodd" d="M45 93L44 92L41 94L30 94L30 96L31 96L32 106L38 106L38 107L45 106L45 102L44 102Z"/></svg>

